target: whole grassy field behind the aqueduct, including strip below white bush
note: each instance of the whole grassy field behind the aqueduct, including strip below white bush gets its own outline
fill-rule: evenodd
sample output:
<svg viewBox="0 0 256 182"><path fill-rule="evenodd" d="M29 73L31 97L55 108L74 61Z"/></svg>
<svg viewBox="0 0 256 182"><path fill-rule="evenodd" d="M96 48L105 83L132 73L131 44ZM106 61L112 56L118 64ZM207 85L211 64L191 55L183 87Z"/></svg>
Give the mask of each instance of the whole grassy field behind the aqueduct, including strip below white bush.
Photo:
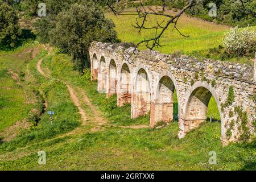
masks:
<svg viewBox="0 0 256 182"><path fill-rule="evenodd" d="M167 10L166 13L175 14L169 10ZM141 34L138 34L138 29L132 26L135 25L138 15L115 16L113 13L106 13L105 15L107 18L113 20L118 39L122 42L137 44L144 39L155 36L155 30L142 30ZM156 22L160 23L164 21L164 23L166 23L167 20L167 18L163 18L162 16L149 16L145 27L156 26ZM138 19L138 22L140 21L142 21L142 19ZM160 39L160 44L163 47L155 48L156 51L169 54L175 52L195 57L203 56L216 60L253 64L252 59L254 58L254 54L239 59L236 57L226 57L224 48L220 46L223 46L222 39L224 38L224 33L230 29L228 26L182 15L177 22L177 28L179 28L184 35L189 37L185 38L181 36L179 32L172 30L172 27L171 24L168 30L164 32ZM256 27L254 28L256 30ZM146 49L145 44L141 44L139 49Z"/></svg>

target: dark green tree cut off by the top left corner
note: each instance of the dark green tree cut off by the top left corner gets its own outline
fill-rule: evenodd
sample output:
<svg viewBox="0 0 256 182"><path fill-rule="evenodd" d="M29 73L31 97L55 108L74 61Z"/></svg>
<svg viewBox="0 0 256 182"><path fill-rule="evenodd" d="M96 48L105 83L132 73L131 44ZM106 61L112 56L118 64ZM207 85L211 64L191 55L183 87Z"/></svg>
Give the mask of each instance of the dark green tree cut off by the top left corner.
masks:
<svg viewBox="0 0 256 182"><path fill-rule="evenodd" d="M0 0L0 49L10 49L18 45L21 35L19 18L15 9Z"/></svg>

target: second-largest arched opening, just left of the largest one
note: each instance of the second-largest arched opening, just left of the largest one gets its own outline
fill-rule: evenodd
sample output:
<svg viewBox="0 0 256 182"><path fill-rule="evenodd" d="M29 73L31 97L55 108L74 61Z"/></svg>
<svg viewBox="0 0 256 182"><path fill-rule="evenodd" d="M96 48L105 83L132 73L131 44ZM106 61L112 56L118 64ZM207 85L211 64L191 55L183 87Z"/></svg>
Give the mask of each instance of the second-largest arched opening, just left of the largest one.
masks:
<svg viewBox="0 0 256 182"><path fill-rule="evenodd" d="M163 76L156 89L155 102L151 104L150 125L154 127L157 122L171 122L176 119L176 102L174 105L175 85L168 76Z"/></svg>

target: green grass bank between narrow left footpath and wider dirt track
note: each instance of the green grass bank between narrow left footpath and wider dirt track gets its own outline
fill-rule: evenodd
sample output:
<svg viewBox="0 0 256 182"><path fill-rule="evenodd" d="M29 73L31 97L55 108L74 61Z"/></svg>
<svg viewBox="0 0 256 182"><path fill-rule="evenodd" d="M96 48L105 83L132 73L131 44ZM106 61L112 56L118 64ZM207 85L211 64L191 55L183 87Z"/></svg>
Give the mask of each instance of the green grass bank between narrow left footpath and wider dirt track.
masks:
<svg viewBox="0 0 256 182"><path fill-rule="evenodd" d="M23 70L24 80L22 81L22 84L25 85L24 87L26 87L26 90L40 96L35 97L35 102L39 102L41 104L41 108L37 109L41 109L41 111L43 109L42 100L39 100L39 98L46 98L48 103L46 113L42 113L42 115L40 115L40 122L36 129L24 129L15 139L11 140L10 142L1 143L1 152L13 151L18 147L25 146L26 144L39 142L55 137L59 134L67 133L68 131L75 129L81 123L78 109L73 104L69 96L68 89L63 82L55 79L47 80L36 70L36 63L39 59L46 56L46 53L46 51L41 51L40 55L36 59L33 59L26 64L26 67L24 67ZM1 84L5 84L5 82L1 82ZM43 96L40 95L39 90L42 90ZM23 90L21 90L21 92L23 93ZM33 106L33 109L35 107L39 107L36 104ZM18 107L19 109L24 109L23 105L19 105ZM12 106L6 107L6 109L11 108ZM49 110L55 111L52 125L50 123L49 115L47 114L47 111ZM19 112L19 110L17 112ZM20 113L14 113L10 116L10 118L15 119L15 117L19 114ZM26 117L27 114L28 111L26 114L24 114L24 117ZM31 121L27 122L30 123Z"/></svg>

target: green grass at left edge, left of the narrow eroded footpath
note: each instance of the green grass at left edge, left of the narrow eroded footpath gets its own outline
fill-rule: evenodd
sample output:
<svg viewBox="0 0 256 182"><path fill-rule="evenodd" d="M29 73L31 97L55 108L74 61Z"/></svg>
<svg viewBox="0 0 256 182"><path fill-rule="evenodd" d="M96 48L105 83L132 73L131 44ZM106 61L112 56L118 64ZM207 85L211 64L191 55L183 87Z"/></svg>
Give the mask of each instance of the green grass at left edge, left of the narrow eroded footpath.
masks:
<svg viewBox="0 0 256 182"><path fill-rule="evenodd" d="M32 108L29 94L19 81L14 80L10 71L19 75L22 80L24 65L32 58L30 53L24 52L27 47L36 46L28 43L18 50L0 52L0 132L18 121L22 121ZM27 98L26 98L27 97Z"/></svg>

